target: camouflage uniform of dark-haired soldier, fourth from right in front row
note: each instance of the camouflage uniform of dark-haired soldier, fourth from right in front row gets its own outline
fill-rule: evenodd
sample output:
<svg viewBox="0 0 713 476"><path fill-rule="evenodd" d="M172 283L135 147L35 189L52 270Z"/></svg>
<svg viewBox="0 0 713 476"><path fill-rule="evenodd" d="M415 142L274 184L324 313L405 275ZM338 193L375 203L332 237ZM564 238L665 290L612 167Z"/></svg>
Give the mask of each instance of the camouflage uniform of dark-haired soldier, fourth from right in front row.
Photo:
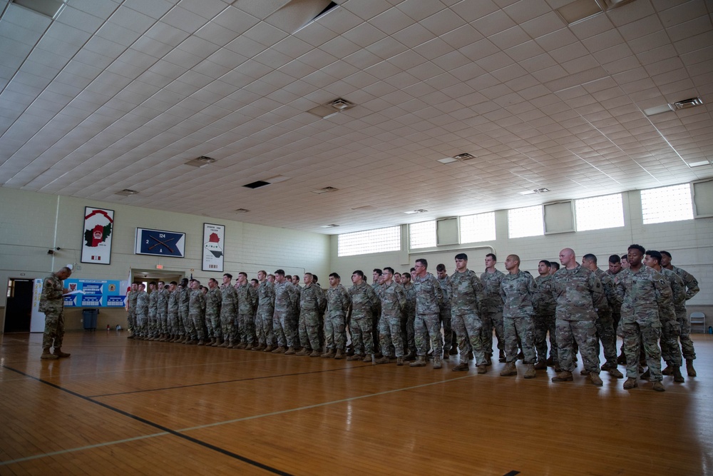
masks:
<svg viewBox="0 0 713 476"><path fill-rule="evenodd" d="M468 352L473 351L476 365L486 365L483 348L483 322L478 315L478 303L483 296L483 283L471 270L456 271L451 275L451 318L458 338L461 363L468 362Z"/></svg>

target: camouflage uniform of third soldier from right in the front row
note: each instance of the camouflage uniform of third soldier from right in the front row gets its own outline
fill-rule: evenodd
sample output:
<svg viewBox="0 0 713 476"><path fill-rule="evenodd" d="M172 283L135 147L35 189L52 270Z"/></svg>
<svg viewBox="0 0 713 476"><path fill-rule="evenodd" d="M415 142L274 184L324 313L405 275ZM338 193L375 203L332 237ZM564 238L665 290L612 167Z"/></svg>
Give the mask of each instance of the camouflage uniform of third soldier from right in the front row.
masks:
<svg viewBox="0 0 713 476"><path fill-rule="evenodd" d="M533 364L537 361L532 300L536 288L535 280L529 273L518 270L517 274L506 274L500 286L506 362L515 363L518 360L519 338L525 355L523 363Z"/></svg>

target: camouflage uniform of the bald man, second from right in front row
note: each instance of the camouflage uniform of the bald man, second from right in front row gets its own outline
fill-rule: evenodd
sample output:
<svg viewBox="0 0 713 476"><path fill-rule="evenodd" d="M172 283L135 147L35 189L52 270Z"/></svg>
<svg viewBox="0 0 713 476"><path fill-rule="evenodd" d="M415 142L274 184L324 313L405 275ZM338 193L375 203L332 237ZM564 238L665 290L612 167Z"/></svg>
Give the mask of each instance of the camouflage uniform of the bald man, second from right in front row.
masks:
<svg viewBox="0 0 713 476"><path fill-rule="evenodd" d="M582 265L570 270L560 268L552 278L552 295L557 301L555 333L560 368L565 372L575 369L573 348L576 343L585 370L600 373L595 308L604 299L602 283Z"/></svg>

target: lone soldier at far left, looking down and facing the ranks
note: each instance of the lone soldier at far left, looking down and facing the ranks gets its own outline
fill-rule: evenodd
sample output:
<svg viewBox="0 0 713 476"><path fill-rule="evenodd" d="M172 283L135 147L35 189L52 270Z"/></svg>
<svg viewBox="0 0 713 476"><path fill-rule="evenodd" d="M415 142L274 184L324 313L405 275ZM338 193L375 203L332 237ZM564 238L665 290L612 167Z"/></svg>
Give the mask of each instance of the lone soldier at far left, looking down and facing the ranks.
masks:
<svg viewBox="0 0 713 476"><path fill-rule="evenodd" d="M62 352L64 338L64 295L69 292L64 288L63 281L72 275L68 267L61 268L44 278L42 295L40 296L39 311L45 314L45 330L42 335L42 360L56 360L69 357L70 354ZM50 348L54 347L54 353Z"/></svg>

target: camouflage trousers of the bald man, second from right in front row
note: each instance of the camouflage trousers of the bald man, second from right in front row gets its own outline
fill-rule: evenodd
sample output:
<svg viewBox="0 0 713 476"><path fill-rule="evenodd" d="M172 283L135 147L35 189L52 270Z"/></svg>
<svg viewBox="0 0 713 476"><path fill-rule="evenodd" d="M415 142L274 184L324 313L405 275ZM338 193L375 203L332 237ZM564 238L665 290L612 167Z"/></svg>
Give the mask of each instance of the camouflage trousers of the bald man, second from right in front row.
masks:
<svg viewBox="0 0 713 476"><path fill-rule="evenodd" d="M583 365L589 373L600 373L597 353L597 325L593 320L555 320L557 358L566 372L575 370L575 343L582 355Z"/></svg>

